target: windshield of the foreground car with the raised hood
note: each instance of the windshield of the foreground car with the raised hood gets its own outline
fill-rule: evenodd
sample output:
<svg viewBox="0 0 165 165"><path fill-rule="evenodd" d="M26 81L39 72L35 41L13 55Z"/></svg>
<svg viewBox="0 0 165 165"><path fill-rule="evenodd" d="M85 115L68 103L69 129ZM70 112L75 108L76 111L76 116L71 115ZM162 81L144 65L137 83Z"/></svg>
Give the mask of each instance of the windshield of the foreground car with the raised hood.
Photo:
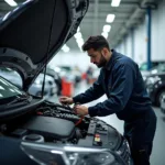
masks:
<svg viewBox="0 0 165 165"><path fill-rule="evenodd" d="M24 95L24 92L0 76L0 100L20 95Z"/></svg>

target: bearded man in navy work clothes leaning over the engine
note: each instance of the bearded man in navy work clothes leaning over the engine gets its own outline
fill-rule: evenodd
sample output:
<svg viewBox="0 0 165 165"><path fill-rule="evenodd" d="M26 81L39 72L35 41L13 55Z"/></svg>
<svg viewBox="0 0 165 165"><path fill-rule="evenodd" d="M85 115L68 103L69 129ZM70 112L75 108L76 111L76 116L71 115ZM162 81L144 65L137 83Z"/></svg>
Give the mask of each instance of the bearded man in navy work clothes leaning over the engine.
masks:
<svg viewBox="0 0 165 165"><path fill-rule="evenodd" d="M106 94L108 99L103 102L92 107L77 105L75 112L90 117L116 113L120 120L124 120L124 136L130 143L134 165L150 165L156 116L138 64L110 50L101 35L90 36L82 50L87 51L90 62L101 68L98 80L84 94L74 98L61 97L59 101L87 103Z"/></svg>

